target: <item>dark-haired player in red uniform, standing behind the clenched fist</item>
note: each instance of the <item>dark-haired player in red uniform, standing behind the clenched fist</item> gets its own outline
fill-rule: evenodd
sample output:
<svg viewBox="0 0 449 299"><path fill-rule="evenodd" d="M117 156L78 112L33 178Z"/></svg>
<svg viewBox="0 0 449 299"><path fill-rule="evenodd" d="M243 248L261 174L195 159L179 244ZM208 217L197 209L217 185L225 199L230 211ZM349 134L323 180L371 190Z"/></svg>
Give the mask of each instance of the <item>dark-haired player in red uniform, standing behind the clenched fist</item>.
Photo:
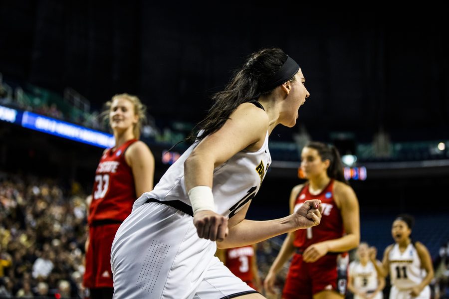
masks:
<svg viewBox="0 0 449 299"><path fill-rule="evenodd" d="M338 150L311 142L301 153L305 184L293 187L290 210L304 201L321 200L321 223L289 233L264 285L273 292L276 273L293 256L282 292L283 299L342 299L347 286L347 252L359 245L359 203L346 183Z"/></svg>

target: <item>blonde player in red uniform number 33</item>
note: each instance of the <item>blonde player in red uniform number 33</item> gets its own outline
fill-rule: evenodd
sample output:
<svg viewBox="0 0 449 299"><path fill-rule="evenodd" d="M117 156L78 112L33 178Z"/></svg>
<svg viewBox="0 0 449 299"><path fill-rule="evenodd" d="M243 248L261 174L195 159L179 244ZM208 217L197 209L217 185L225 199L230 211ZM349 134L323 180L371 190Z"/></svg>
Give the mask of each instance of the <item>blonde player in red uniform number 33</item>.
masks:
<svg viewBox="0 0 449 299"><path fill-rule="evenodd" d="M139 141L145 106L138 97L119 94L106 103L115 146L106 149L95 171L88 211L89 237L83 286L91 299L110 299L113 279L111 245L134 201L153 189L154 157Z"/></svg>

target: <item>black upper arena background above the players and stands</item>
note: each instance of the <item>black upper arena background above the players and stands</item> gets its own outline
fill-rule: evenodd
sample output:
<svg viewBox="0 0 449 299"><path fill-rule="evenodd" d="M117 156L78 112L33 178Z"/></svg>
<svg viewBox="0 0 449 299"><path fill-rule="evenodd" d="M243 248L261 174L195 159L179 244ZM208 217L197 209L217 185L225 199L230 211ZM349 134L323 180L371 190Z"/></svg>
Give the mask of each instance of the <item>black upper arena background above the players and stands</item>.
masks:
<svg viewBox="0 0 449 299"><path fill-rule="evenodd" d="M298 122L312 138L353 131L370 141L381 126L396 140L447 138L444 9L343 8L2 0L0 71L71 86L98 109L115 93L138 94L156 119L197 122L247 54L279 46L306 76ZM288 138L297 128L278 130Z"/></svg>

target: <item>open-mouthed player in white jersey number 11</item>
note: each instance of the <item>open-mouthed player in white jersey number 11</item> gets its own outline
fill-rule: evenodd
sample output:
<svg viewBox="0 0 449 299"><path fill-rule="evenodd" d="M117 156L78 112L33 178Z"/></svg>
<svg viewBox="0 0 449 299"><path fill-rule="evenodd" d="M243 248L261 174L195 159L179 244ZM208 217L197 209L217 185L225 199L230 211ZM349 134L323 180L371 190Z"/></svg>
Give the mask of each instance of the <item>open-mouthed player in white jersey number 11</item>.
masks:
<svg viewBox="0 0 449 299"><path fill-rule="evenodd" d="M391 234L395 244L388 246L384 252L382 265L374 264L379 275L390 274L390 299L430 299L429 283L434 278L434 268L429 250L421 242L410 238L415 219L408 214L401 214L393 221ZM370 259L375 259L375 251L370 252Z"/></svg>

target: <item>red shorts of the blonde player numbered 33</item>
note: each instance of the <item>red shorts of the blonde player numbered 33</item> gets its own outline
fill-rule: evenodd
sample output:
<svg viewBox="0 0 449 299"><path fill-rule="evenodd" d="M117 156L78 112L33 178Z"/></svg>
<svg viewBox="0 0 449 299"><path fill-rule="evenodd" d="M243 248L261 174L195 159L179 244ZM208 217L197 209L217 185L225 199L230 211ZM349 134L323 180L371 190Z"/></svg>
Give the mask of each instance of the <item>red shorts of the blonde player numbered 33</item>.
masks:
<svg viewBox="0 0 449 299"><path fill-rule="evenodd" d="M111 247L120 223L89 227L89 247L86 252L86 288L113 288Z"/></svg>

